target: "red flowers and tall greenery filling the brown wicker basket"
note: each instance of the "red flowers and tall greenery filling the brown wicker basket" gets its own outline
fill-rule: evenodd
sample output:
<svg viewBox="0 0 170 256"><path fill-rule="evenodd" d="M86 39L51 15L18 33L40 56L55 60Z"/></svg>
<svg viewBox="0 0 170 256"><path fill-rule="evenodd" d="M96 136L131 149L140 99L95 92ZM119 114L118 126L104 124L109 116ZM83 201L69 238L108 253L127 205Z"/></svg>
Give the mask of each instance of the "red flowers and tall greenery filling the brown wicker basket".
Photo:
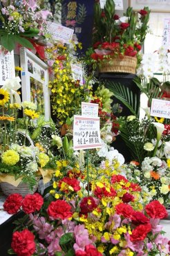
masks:
<svg viewBox="0 0 170 256"><path fill-rule="evenodd" d="M87 52L88 63L96 65L112 57L138 57L147 34L149 13L147 7L138 13L129 7L124 16L119 17L113 0L107 0L104 9L96 1L93 48Z"/></svg>

